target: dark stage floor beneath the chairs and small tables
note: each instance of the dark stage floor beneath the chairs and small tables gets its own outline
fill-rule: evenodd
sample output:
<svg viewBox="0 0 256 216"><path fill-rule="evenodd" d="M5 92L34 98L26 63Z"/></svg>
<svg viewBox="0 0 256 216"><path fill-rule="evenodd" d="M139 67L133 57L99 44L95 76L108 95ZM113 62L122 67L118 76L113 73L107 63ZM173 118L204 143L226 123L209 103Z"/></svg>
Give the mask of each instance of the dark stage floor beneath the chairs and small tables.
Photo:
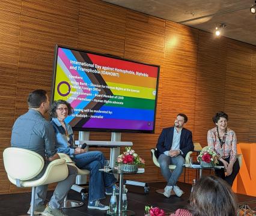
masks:
<svg viewBox="0 0 256 216"><path fill-rule="evenodd" d="M144 194L144 188L127 186L129 188L129 193L127 194L128 208L136 213L136 215L144 215L145 205L158 206L162 208L165 212L173 212L175 209L184 208L188 204L189 193L191 189L190 184L178 182L180 188L183 189L184 194L181 197L171 196L166 198L162 194L156 193L156 189L164 188L165 184L163 182L149 183L150 192ZM50 198L52 192L48 192L47 199ZM29 202L31 199L30 193L22 194L4 194L0 195L0 216L17 216L25 215L29 208ZM75 191L70 191L68 195L69 199L82 200L81 195ZM249 200L256 200L256 197L245 196L242 194L237 194L239 202L246 202ZM110 196L107 196L102 203L108 205ZM106 211L98 211L87 208L88 200L85 200L85 204L79 208L64 209L67 215L70 216L85 216L85 215L105 215ZM253 207L253 205L252 205Z"/></svg>

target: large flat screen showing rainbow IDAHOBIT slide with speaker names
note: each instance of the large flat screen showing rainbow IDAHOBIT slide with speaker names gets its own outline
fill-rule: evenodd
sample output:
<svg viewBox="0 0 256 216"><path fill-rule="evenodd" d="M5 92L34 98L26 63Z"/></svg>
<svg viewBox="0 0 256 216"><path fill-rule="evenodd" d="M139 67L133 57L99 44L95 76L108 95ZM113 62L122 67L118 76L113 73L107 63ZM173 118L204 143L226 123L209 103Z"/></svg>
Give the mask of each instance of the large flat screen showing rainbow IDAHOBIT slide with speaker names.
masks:
<svg viewBox="0 0 256 216"><path fill-rule="evenodd" d="M56 46L52 101L77 131L154 133L159 66Z"/></svg>

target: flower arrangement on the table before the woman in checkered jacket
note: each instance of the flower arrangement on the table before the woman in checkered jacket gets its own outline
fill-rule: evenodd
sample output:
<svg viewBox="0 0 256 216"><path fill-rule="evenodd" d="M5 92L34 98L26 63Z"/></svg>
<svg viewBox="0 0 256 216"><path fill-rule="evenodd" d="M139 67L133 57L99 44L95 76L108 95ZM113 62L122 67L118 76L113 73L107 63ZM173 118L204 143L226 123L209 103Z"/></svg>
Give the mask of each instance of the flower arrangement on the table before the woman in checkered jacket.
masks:
<svg viewBox="0 0 256 216"><path fill-rule="evenodd" d="M207 146L207 148L198 155L197 161L200 162L201 167L214 167L218 163L218 158L216 152Z"/></svg>

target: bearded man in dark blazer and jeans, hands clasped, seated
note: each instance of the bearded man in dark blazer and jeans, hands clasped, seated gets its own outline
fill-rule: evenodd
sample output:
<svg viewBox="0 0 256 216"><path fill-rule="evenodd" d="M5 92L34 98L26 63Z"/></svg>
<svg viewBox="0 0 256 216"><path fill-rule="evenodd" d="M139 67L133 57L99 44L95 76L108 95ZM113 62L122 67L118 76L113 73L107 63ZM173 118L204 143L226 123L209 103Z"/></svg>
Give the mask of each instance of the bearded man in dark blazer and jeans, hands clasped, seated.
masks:
<svg viewBox="0 0 256 216"><path fill-rule="evenodd" d="M183 128L187 122L187 116L183 113L177 115L174 127L163 128L157 141L155 151L156 158L160 164L163 177L167 181L163 195L171 196L171 190L180 197L183 191L176 185L180 177L184 158L187 152L194 150L191 131ZM171 172L169 164L174 164L176 168Z"/></svg>

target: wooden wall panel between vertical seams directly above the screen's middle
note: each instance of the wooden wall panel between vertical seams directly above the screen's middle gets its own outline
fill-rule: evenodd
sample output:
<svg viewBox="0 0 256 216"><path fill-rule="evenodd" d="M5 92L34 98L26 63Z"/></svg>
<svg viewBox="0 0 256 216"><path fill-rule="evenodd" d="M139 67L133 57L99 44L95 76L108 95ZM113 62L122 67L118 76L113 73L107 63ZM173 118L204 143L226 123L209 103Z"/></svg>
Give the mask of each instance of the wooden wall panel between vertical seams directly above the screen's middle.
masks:
<svg viewBox="0 0 256 216"><path fill-rule="evenodd" d="M124 57L125 11L102 1L81 1L79 48Z"/></svg>

